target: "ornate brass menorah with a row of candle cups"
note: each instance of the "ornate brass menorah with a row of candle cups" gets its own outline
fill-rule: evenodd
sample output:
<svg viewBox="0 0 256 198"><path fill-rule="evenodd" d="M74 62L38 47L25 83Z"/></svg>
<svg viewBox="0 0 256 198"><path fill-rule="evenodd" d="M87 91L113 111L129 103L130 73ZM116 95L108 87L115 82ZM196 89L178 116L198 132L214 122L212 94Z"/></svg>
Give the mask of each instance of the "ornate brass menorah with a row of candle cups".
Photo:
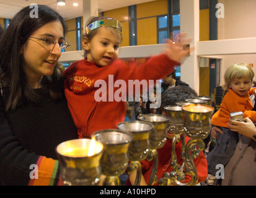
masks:
<svg viewBox="0 0 256 198"><path fill-rule="evenodd" d="M141 160L153 160L149 185L157 182L158 153L164 146L167 130L173 134L172 171L159 179L159 185L191 186L198 181L193 158L205 148L202 139L211 131L211 115L214 108L205 105L209 101L192 98L177 106L165 106L165 115L143 114L139 121L118 124L118 129L94 132L92 139L63 142L56 147L61 165L61 177L65 185L98 185L101 174L107 177L104 185L120 185L119 177L125 170L136 170L135 186L141 181ZM203 103L203 105L201 105ZM185 139L190 137L187 144ZM175 145L182 141L182 164L177 161ZM168 151L167 151L168 152ZM130 163L128 163L130 161ZM191 176L184 183L185 174Z"/></svg>

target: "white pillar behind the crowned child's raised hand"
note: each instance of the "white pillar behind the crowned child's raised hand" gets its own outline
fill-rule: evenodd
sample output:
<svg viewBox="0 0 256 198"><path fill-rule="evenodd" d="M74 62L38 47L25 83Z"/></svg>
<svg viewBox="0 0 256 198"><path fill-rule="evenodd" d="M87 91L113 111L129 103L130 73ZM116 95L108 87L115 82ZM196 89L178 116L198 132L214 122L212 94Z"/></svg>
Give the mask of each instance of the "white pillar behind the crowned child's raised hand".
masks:
<svg viewBox="0 0 256 198"><path fill-rule="evenodd" d="M199 67L196 55L196 43L199 41L199 0L180 0L180 32L192 37L193 53L182 63L181 80L187 82L199 94Z"/></svg>

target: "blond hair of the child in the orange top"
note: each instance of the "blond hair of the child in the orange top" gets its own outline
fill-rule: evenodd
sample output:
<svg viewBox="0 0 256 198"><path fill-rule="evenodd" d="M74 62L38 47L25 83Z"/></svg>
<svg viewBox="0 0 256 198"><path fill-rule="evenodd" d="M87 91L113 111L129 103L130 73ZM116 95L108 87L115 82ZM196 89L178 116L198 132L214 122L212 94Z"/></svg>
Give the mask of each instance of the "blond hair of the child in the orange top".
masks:
<svg viewBox="0 0 256 198"><path fill-rule="evenodd" d="M250 79L253 83L254 71L252 67L245 63L233 64L229 67L224 75L225 84L223 85L223 89L228 90L229 85L234 79Z"/></svg>

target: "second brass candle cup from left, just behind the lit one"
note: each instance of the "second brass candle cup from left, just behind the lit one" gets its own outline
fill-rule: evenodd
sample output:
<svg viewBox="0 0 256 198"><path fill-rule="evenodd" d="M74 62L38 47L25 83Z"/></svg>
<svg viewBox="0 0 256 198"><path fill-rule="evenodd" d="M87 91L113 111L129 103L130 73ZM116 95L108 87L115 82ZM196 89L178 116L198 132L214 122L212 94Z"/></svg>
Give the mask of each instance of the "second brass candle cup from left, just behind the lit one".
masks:
<svg viewBox="0 0 256 198"><path fill-rule="evenodd" d="M104 153L100 160L102 173L107 176L104 184L111 185L114 182L119 186L118 176L125 173L128 166L128 147L133 135L119 129L105 129L94 132L91 137L104 145Z"/></svg>

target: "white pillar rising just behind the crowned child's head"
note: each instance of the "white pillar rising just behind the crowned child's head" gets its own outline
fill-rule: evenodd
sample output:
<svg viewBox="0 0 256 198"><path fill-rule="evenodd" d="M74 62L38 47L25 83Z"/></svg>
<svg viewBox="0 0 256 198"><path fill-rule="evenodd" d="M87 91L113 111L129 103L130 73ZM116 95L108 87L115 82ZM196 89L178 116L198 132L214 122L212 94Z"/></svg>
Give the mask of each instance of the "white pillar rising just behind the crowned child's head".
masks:
<svg viewBox="0 0 256 198"><path fill-rule="evenodd" d="M83 28L90 17L97 17L99 13L98 0L82 0ZM85 33L85 32L84 32Z"/></svg>

